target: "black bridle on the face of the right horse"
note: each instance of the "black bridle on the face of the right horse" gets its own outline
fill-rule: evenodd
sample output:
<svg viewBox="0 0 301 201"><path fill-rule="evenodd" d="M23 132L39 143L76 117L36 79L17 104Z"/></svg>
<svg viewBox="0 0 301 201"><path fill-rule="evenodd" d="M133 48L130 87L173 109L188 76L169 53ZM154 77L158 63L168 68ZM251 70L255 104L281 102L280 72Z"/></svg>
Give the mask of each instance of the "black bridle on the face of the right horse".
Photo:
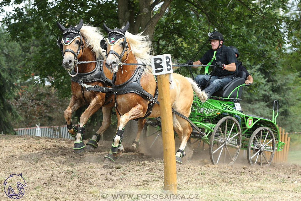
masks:
<svg viewBox="0 0 301 201"><path fill-rule="evenodd" d="M103 48L104 50L106 50L106 51L105 51L105 53L106 53L106 58L108 58L108 55L109 55L109 54L115 54L115 55L119 58L119 60L120 60L120 62L121 62L121 58L124 56L125 51L128 50L129 43L126 41L125 34L122 33L122 32L120 32L120 31L118 31L118 30L116 30L116 29L117 29L117 28L115 28L114 30L111 30L111 31L108 33L108 35L106 35L105 37L103 37L103 39L100 41L100 47ZM113 35L121 35L122 37L119 38L117 41L115 41L114 44L111 44L110 41L109 41L109 39L108 39L108 37L111 37L111 36L113 36ZM120 36L119 36L119 37L120 37ZM123 41L123 50L122 50L121 54L119 55L119 54L118 54L117 52L115 52L114 50L110 50L109 52L107 52L107 47L108 47L108 46L107 46L107 43L106 43L106 42L108 42L109 45L115 45L120 39L124 39L124 41Z"/></svg>

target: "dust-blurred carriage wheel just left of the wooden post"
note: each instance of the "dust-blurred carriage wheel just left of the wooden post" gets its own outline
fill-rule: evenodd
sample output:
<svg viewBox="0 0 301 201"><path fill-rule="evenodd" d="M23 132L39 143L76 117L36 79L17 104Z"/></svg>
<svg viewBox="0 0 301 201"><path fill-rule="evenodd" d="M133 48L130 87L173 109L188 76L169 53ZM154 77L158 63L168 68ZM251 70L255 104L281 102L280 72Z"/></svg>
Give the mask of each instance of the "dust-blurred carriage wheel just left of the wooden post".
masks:
<svg viewBox="0 0 301 201"><path fill-rule="evenodd" d="M143 128L143 141L150 153L163 153L161 122L147 119Z"/></svg>

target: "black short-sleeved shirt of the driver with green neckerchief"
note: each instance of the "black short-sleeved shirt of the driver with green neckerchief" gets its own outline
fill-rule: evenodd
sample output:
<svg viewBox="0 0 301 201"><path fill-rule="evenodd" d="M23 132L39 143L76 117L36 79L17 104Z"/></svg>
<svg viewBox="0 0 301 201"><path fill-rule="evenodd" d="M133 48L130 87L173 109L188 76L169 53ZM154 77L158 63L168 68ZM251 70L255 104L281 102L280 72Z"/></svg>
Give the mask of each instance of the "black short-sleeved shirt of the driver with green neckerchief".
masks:
<svg viewBox="0 0 301 201"><path fill-rule="evenodd" d="M199 61L204 64L204 65L207 65L212 57L213 57L213 54L214 54L214 50L213 49L210 49L208 50L202 58L199 59ZM228 46L224 46L222 45L216 52L215 54L215 58L216 60L214 59L211 63L211 65L214 65L216 62L220 61L226 65L230 64L230 63L235 63L236 65L236 70L235 71L228 71L228 70L224 70L224 69L221 69L221 68L218 68L216 67L215 68L215 72L214 72L214 75L216 76L226 76L226 75L231 75L231 76L234 76L236 77L237 76L237 73L238 73L238 68L237 68L237 59L235 57L235 53L234 51L232 50L232 48L228 47ZM212 70L214 69L214 66L211 66Z"/></svg>

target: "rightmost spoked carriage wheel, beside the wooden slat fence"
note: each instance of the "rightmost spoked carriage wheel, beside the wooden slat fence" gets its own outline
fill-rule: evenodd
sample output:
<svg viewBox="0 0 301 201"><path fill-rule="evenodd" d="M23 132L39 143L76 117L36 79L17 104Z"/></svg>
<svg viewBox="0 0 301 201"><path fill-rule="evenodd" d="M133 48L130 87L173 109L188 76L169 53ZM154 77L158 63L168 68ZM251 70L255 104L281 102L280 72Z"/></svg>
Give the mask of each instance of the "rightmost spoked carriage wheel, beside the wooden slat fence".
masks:
<svg viewBox="0 0 301 201"><path fill-rule="evenodd" d="M251 135L247 158L251 166L268 166L275 154L275 136L267 127L257 128Z"/></svg>

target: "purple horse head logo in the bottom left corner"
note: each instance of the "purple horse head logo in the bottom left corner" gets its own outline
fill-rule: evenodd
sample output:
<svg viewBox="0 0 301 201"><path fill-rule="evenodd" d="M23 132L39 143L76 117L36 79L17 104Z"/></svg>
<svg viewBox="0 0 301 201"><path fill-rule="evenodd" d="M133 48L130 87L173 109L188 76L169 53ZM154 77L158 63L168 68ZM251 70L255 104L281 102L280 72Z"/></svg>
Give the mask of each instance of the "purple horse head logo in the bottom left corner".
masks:
<svg viewBox="0 0 301 201"><path fill-rule="evenodd" d="M23 197L26 182L23 179L22 174L9 175L9 177L4 181L3 185L7 197L12 199L20 199Z"/></svg>

